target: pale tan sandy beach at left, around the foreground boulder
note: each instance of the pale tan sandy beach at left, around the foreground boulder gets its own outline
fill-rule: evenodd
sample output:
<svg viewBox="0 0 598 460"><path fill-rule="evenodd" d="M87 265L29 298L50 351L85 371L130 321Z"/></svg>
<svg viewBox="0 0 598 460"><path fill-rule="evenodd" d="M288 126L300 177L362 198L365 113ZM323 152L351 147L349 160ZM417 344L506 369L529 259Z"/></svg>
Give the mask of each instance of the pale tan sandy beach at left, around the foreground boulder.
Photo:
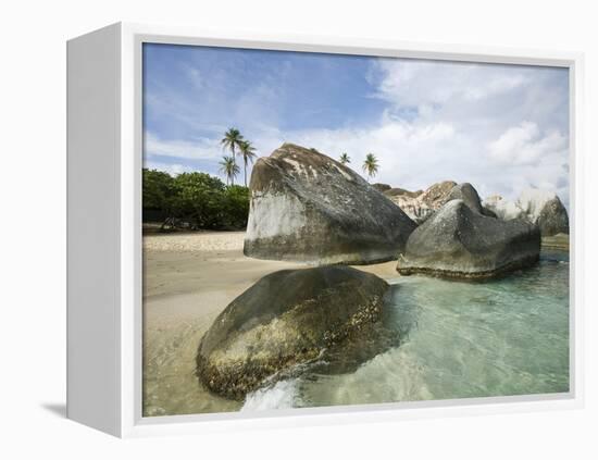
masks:
<svg viewBox="0 0 598 460"><path fill-rule="evenodd" d="M244 232L144 236L144 413L235 411L194 374L203 333L224 308L262 276L307 265L250 259ZM357 266L391 278L396 262Z"/></svg>

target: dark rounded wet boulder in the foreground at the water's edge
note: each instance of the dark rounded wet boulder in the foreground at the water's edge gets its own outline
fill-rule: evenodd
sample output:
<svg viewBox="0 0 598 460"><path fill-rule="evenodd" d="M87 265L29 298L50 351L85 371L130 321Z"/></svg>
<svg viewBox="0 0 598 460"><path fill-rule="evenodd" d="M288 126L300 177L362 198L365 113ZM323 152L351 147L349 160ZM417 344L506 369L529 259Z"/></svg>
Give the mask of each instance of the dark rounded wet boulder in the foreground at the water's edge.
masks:
<svg viewBox="0 0 598 460"><path fill-rule="evenodd" d="M379 322L387 294L384 279L344 265L266 275L205 333L197 375L212 391L237 399L274 374L329 360L326 353L335 356L346 344L361 349L362 338L371 341L367 333Z"/></svg>

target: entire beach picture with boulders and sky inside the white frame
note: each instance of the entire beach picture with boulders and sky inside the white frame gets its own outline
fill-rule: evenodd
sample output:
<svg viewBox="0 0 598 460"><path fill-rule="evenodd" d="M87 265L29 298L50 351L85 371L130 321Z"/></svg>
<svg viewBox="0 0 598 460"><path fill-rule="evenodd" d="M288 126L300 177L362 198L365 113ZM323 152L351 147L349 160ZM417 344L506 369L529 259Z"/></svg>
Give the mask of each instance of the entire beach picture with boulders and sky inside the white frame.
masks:
<svg viewBox="0 0 598 460"><path fill-rule="evenodd" d="M144 42L142 417L568 394L570 78Z"/></svg>

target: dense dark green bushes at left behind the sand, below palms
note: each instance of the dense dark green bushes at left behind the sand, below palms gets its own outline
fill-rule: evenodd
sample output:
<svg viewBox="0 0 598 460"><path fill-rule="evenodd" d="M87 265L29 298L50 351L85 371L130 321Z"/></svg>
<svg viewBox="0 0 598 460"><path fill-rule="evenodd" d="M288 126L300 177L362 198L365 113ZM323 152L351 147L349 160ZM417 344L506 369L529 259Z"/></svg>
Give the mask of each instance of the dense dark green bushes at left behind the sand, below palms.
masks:
<svg viewBox="0 0 598 460"><path fill-rule="evenodd" d="M159 211L157 213L157 211ZM249 190L225 186L205 173L166 173L144 170L144 220L191 229L239 229L247 226Z"/></svg>

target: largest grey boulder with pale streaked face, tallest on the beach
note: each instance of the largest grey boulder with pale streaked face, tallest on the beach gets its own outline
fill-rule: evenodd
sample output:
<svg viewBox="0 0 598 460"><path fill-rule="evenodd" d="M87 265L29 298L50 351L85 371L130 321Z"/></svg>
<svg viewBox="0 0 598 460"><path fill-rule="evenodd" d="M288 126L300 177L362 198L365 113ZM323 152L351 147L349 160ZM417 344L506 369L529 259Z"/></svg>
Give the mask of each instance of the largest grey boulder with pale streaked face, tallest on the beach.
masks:
<svg viewBox="0 0 598 460"><path fill-rule="evenodd" d="M394 260L416 224L359 174L284 144L251 173L244 252L317 264Z"/></svg>

